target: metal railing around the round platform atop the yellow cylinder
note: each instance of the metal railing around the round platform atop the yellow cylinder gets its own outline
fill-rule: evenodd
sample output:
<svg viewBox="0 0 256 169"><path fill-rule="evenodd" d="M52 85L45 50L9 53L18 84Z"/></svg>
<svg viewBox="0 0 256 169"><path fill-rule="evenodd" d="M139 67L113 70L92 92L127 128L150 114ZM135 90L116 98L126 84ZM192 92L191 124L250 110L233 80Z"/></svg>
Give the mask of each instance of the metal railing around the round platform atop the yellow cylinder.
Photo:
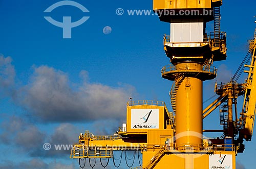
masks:
<svg viewBox="0 0 256 169"><path fill-rule="evenodd" d="M187 67L184 67L184 68L181 68L179 67L179 69L176 69L176 66L172 65L172 64L169 64L167 66L164 66L162 67L162 70L161 70L161 73L162 74L165 74L165 73L168 73L169 71L195 71L195 72L209 72L209 73L212 73L212 74L217 74L217 68L214 67L214 66L211 66L211 65L204 65L202 66L202 68L200 70L198 69L190 69L190 68L187 68Z"/></svg>

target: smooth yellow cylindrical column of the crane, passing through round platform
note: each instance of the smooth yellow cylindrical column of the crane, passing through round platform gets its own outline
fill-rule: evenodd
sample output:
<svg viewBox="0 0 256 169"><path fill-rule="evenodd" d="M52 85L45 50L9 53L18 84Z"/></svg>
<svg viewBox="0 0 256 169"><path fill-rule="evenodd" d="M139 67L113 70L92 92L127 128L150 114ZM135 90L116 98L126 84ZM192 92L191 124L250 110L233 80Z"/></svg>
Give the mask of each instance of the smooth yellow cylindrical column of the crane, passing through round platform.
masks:
<svg viewBox="0 0 256 169"><path fill-rule="evenodd" d="M183 67L186 65L181 63L177 66ZM201 70L202 65L194 65L193 69ZM192 132L200 134L193 134ZM197 149L201 144L202 80L186 77L181 83L176 96L176 147L183 149L184 145L190 145Z"/></svg>

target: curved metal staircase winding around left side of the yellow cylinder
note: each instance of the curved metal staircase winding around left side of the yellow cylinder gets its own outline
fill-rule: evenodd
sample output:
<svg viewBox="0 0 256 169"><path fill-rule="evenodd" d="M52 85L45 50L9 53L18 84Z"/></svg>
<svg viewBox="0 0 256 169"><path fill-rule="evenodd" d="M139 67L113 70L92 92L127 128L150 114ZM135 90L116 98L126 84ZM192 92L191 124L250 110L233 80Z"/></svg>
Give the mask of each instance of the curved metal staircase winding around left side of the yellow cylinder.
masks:
<svg viewBox="0 0 256 169"><path fill-rule="evenodd" d="M172 104L174 113L176 112L176 96L181 83L184 80L184 76L180 76L173 83L172 89L170 90L170 103Z"/></svg>

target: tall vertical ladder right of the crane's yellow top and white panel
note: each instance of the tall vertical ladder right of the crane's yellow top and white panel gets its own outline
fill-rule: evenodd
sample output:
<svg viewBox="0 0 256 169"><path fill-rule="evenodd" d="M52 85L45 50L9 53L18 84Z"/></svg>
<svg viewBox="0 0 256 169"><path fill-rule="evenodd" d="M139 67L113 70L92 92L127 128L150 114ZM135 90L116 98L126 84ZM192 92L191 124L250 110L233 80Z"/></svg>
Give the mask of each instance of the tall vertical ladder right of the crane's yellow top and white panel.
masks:
<svg viewBox="0 0 256 169"><path fill-rule="evenodd" d="M220 47L220 7L214 7L214 46Z"/></svg>

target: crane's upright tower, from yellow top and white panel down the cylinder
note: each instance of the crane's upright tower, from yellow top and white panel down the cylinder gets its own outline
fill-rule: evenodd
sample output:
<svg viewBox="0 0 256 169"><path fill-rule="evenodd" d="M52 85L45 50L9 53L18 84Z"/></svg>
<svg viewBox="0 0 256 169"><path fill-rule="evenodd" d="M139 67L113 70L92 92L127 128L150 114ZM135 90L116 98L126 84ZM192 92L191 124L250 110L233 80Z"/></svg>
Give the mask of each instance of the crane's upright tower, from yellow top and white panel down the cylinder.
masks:
<svg viewBox="0 0 256 169"><path fill-rule="evenodd" d="M216 77L214 61L226 59L226 36L219 24L221 5L222 1L211 0L154 1L160 20L170 23L164 50L172 64L162 68L162 77L175 81L170 98L176 114L177 150L202 148L202 82ZM215 32L207 35L206 23L211 20Z"/></svg>

